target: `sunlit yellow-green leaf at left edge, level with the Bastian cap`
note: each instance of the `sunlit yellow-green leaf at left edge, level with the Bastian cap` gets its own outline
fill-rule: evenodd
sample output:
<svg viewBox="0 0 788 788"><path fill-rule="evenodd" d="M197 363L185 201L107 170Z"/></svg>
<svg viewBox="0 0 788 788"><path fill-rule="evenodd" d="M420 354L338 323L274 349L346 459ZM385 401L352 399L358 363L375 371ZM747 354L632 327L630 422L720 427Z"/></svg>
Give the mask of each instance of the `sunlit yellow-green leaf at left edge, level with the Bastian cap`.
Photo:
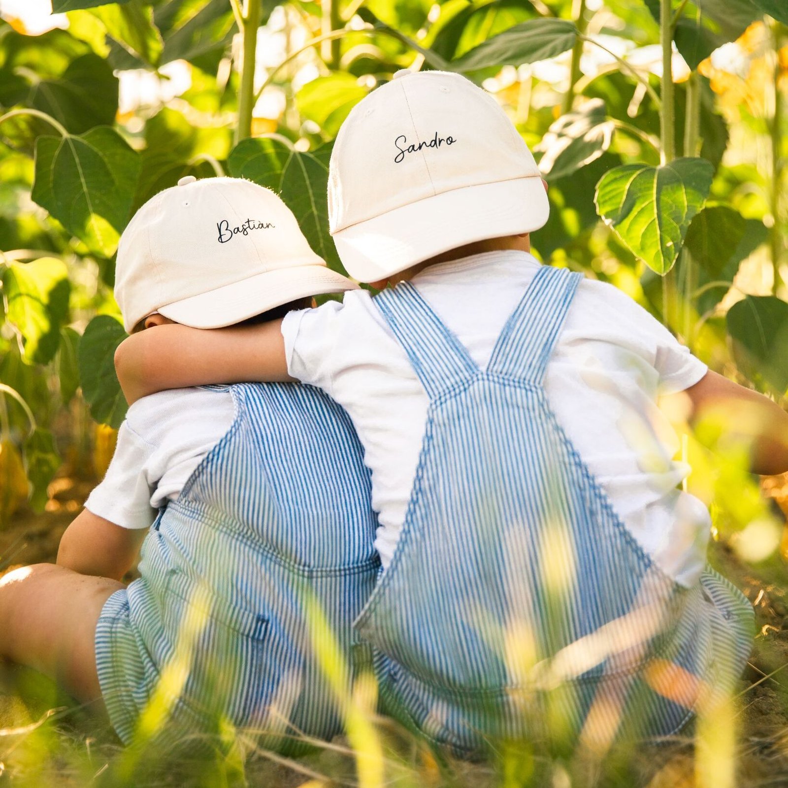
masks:
<svg viewBox="0 0 788 788"><path fill-rule="evenodd" d="M46 364L58 352L60 327L69 313L69 272L62 260L13 262L3 273L7 318L17 326L28 364Z"/></svg>

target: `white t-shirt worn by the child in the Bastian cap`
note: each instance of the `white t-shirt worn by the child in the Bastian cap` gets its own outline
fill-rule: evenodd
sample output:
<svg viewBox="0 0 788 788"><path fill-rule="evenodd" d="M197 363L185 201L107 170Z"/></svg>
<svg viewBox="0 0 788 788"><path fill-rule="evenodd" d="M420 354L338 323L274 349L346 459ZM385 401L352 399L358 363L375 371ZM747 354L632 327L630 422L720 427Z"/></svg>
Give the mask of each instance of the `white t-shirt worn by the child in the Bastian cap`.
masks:
<svg viewBox="0 0 788 788"><path fill-rule="evenodd" d="M123 528L149 528L156 510L177 499L234 418L229 389L175 388L137 400L85 508Z"/></svg>

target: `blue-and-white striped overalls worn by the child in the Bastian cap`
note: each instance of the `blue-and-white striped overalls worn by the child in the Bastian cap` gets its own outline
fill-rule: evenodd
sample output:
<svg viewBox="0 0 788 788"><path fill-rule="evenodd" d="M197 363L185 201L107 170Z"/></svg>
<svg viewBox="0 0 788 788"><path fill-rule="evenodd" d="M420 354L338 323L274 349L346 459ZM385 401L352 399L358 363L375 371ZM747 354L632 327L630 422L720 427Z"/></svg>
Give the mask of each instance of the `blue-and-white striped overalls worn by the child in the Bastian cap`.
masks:
<svg viewBox="0 0 788 788"><path fill-rule="evenodd" d="M161 511L141 578L99 620L102 694L126 743L236 727L293 752L278 734L342 729L325 670L349 683L351 623L380 566L362 449L316 388L231 392L232 427Z"/></svg>

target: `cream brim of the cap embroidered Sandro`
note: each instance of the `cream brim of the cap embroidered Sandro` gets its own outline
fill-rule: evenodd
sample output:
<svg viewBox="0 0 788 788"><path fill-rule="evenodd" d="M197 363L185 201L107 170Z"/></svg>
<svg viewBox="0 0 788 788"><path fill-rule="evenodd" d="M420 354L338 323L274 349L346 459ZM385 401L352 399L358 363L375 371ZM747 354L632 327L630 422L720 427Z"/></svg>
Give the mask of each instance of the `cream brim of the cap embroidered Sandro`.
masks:
<svg viewBox="0 0 788 788"><path fill-rule="evenodd" d="M539 175L466 186L333 234L351 277L374 282L466 243L533 232L550 213Z"/></svg>

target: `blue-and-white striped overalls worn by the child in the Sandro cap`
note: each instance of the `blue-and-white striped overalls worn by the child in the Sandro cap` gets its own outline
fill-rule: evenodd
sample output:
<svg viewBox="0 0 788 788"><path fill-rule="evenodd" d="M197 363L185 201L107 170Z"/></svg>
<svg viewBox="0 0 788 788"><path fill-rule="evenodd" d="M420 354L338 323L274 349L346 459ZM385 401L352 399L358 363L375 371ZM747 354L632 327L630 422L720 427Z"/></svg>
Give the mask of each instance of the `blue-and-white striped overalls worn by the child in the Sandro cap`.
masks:
<svg viewBox="0 0 788 788"><path fill-rule="evenodd" d="M664 575L549 406L581 278L540 269L486 370L414 285L375 299L430 404L400 542L357 627L388 712L458 753L669 734L749 654L742 594L710 569L692 589Z"/></svg>

